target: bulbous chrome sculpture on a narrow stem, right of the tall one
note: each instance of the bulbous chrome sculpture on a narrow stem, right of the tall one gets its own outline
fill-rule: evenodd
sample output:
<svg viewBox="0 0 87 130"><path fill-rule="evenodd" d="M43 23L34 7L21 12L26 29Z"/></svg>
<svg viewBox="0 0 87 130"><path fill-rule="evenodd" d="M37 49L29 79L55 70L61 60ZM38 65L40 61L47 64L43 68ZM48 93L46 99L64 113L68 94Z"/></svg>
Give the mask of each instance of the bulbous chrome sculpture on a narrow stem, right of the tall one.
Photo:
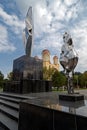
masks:
<svg viewBox="0 0 87 130"><path fill-rule="evenodd" d="M78 63L78 54L74 49L72 38L67 32L63 35L63 41L64 44L61 48L60 64L64 68L64 73L67 77L68 94L73 94L73 76L74 69Z"/></svg>

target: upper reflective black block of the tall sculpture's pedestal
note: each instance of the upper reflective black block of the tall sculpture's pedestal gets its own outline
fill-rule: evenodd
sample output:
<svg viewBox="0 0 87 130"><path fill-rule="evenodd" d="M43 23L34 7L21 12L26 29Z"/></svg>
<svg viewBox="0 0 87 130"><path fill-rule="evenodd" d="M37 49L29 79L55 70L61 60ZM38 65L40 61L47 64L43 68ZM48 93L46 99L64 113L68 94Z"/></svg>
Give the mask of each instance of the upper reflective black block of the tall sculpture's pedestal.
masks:
<svg viewBox="0 0 87 130"><path fill-rule="evenodd" d="M42 79L43 62L41 59L24 55L13 63L13 78L20 79Z"/></svg>

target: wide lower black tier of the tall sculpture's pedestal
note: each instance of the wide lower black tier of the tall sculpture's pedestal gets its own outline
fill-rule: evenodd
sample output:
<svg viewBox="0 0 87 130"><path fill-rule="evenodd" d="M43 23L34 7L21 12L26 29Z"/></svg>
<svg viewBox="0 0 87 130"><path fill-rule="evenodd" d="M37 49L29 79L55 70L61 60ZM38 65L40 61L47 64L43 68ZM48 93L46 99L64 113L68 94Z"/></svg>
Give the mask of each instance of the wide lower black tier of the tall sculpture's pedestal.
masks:
<svg viewBox="0 0 87 130"><path fill-rule="evenodd" d="M20 81L8 81L3 87L3 92L20 94L50 91L52 91L52 82L44 80L23 79Z"/></svg>

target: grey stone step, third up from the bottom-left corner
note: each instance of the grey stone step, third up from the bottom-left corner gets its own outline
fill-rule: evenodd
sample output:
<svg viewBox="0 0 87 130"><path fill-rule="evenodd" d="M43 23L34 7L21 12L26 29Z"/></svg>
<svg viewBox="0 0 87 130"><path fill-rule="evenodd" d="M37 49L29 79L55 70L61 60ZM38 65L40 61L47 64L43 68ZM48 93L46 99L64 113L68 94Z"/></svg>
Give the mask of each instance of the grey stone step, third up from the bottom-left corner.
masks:
<svg viewBox="0 0 87 130"><path fill-rule="evenodd" d="M13 103L10 101L5 101L5 100L0 99L0 104L10 107L16 111L19 111L19 105L17 103Z"/></svg>

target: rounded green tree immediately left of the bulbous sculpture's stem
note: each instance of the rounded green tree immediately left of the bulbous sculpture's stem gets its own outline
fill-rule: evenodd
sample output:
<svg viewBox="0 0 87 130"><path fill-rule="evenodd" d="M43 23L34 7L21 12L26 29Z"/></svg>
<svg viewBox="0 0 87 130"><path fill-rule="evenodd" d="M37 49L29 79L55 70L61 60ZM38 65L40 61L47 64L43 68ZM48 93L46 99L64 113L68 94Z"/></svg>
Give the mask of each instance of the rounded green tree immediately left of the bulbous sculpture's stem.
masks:
<svg viewBox="0 0 87 130"><path fill-rule="evenodd" d="M52 75L52 82L53 86L58 89L59 87L66 85L66 77L61 72L55 71Z"/></svg>

